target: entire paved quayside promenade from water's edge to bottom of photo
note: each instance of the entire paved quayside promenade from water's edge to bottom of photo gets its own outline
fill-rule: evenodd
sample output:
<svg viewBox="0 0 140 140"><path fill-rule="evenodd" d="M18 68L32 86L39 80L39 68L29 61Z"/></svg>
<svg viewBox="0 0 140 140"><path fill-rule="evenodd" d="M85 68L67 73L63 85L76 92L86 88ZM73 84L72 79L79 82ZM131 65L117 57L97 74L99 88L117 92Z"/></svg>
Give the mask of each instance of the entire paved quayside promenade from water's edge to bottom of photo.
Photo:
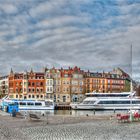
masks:
<svg viewBox="0 0 140 140"><path fill-rule="evenodd" d="M49 116L40 120L0 115L0 140L139 140L140 122L110 116Z"/></svg>

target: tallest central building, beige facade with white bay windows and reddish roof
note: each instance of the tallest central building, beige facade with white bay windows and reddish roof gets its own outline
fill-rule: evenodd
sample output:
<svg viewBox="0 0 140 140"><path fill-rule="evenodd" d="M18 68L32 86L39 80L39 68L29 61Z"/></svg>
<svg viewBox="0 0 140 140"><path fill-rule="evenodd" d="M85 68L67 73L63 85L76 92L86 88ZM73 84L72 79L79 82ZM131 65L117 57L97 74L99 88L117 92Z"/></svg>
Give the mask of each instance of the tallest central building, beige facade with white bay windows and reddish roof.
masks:
<svg viewBox="0 0 140 140"><path fill-rule="evenodd" d="M46 97L59 104L83 99L84 71L78 67L45 69Z"/></svg>

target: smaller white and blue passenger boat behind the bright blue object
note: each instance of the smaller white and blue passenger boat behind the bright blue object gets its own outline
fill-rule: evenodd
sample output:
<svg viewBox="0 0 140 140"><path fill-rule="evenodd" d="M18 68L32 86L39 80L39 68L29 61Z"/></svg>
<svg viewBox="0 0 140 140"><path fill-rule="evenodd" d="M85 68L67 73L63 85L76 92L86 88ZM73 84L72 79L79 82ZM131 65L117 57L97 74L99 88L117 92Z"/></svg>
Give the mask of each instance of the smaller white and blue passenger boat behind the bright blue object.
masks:
<svg viewBox="0 0 140 140"><path fill-rule="evenodd" d="M15 103L21 110L54 110L55 105L52 100L9 100L5 99L3 103ZM2 103L2 104L3 104Z"/></svg>

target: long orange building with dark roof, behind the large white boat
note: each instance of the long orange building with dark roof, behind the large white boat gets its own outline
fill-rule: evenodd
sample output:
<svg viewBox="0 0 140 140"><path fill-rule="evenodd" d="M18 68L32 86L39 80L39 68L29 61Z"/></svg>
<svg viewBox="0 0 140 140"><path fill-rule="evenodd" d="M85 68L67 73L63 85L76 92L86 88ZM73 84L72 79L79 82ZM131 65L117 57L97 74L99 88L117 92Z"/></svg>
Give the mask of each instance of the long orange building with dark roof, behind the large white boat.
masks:
<svg viewBox="0 0 140 140"><path fill-rule="evenodd" d="M126 90L126 77L119 75L119 74L112 74L112 73L86 73L85 78L85 86L86 92L124 92L130 91L129 89Z"/></svg>

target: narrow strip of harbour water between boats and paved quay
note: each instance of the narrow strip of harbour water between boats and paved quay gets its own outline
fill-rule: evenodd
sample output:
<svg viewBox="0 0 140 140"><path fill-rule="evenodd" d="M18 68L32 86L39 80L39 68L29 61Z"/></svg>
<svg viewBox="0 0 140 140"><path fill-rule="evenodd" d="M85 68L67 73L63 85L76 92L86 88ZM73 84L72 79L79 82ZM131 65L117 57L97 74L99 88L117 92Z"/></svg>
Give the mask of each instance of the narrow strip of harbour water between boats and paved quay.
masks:
<svg viewBox="0 0 140 140"><path fill-rule="evenodd" d="M91 110L47 110L47 111L40 111L40 110L29 110L29 111L20 111L22 114L34 113L41 116L54 116L54 115L71 115L71 116L85 116L85 115L112 115L114 113L126 113L127 110L117 110L117 111L91 111Z"/></svg>

